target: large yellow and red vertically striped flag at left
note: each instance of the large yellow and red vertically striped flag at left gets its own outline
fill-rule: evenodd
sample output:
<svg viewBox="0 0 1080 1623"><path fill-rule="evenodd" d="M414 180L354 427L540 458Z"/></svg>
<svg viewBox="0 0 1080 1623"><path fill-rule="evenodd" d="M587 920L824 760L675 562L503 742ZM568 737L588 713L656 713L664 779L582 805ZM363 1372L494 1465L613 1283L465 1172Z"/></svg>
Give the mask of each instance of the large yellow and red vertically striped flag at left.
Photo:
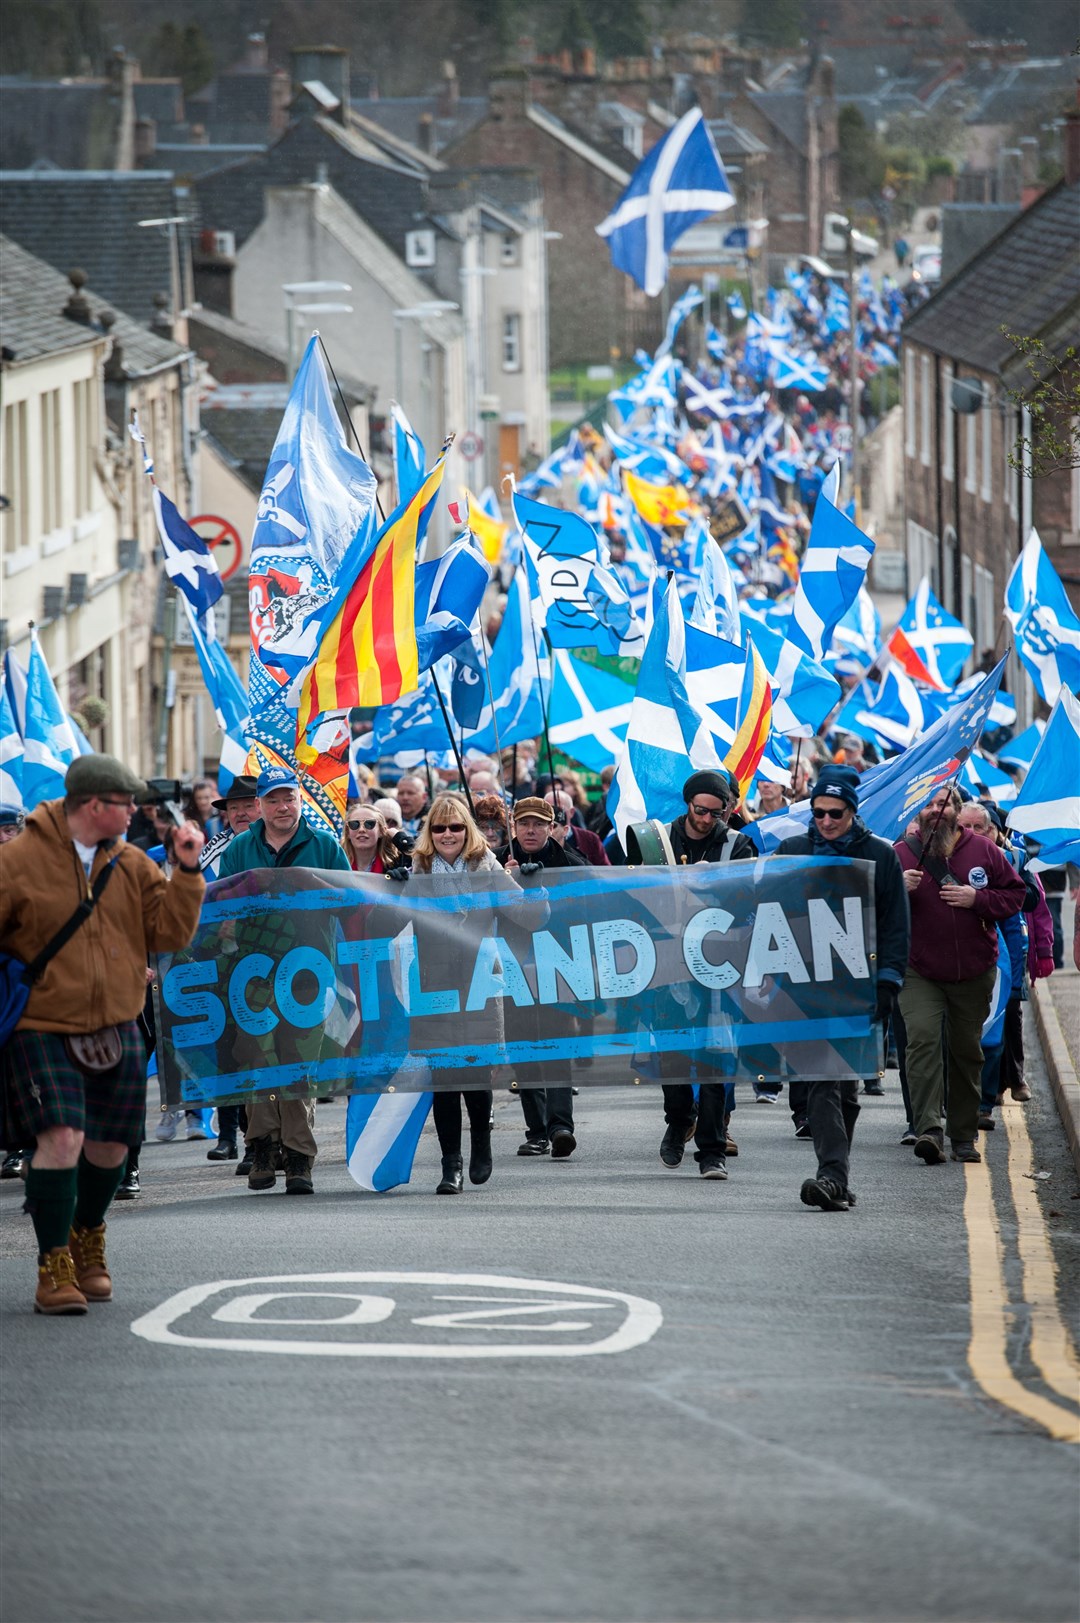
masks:
<svg viewBox="0 0 1080 1623"><path fill-rule="evenodd" d="M375 550L326 626L315 664L304 678L297 751L307 748L307 729L325 711L393 704L417 687L416 549L427 529L443 466L440 456L416 495L390 514Z"/></svg>

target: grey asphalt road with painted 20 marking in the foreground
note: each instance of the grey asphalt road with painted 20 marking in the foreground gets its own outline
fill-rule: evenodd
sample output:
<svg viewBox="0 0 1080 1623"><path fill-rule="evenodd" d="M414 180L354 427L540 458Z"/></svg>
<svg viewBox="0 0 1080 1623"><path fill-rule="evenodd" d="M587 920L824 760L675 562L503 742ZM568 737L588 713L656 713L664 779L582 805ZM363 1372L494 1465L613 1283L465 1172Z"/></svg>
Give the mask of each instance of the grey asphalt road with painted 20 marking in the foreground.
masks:
<svg viewBox="0 0 1080 1623"><path fill-rule="evenodd" d="M1080 1201L1033 1070L1067 1274ZM974 1380L970 1173L898 1146L888 1087L846 1214L799 1204L783 1104L741 1104L728 1183L664 1172L645 1087L583 1092L567 1164L515 1159L500 1096L495 1175L456 1199L430 1131L409 1190L361 1195L343 1105L313 1199L148 1146L115 1302L81 1319L31 1313L2 1185L3 1623L1074 1618L1080 1449ZM1007 1147L1009 1357L1044 1391ZM307 1277L372 1272L421 1277Z"/></svg>

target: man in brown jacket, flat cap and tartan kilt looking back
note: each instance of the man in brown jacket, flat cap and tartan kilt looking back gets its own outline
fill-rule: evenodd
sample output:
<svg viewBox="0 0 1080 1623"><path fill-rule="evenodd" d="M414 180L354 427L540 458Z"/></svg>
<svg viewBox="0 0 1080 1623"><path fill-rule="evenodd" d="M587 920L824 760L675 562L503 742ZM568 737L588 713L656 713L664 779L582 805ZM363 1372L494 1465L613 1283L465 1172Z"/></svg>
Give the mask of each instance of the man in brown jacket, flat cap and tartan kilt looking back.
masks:
<svg viewBox="0 0 1080 1623"><path fill-rule="evenodd" d="M11 1143L34 1143L26 1206L37 1237L37 1313L110 1302L106 1212L143 1136L138 1014L148 953L187 946L203 899L203 831L175 831L171 881L125 834L146 786L110 755L81 755L0 847L0 951L29 964L97 889L93 911L32 984L2 1060ZM101 886L102 875L109 878Z"/></svg>

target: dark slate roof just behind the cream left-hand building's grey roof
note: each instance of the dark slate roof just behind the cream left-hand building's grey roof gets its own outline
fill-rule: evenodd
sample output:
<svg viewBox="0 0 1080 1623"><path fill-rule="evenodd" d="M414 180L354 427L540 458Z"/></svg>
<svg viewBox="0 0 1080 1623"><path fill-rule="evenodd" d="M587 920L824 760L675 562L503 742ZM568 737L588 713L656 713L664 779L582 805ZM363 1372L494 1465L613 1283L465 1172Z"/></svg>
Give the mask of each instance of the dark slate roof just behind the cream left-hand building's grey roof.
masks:
<svg viewBox="0 0 1080 1623"><path fill-rule="evenodd" d="M143 323L154 316L154 294L172 289L172 247L167 232L138 221L177 213L164 170L0 174L5 234L65 278L81 266L101 299Z"/></svg>

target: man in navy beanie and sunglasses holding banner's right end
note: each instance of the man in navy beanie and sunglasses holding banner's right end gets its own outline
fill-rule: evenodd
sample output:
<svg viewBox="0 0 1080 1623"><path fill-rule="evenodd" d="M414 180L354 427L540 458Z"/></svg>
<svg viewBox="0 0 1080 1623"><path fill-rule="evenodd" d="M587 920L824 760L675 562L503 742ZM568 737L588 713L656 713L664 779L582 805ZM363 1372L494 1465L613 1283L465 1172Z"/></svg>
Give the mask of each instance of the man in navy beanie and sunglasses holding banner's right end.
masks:
<svg viewBox="0 0 1080 1623"><path fill-rule="evenodd" d="M783 839L778 857L851 857L874 863L874 912L877 920L877 1010L888 1031L893 1000L908 967L908 898L896 854L877 839L858 815L859 774L851 766L825 766L810 790L810 826L806 834ZM817 1177L799 1191L804 1206L841 1212L854 1206L848 1186L851 1136L859 1115L858 1078L804 1083L806 1117L817 1154ZM794 1092L796 1084L791 1084Z"/></svg>

